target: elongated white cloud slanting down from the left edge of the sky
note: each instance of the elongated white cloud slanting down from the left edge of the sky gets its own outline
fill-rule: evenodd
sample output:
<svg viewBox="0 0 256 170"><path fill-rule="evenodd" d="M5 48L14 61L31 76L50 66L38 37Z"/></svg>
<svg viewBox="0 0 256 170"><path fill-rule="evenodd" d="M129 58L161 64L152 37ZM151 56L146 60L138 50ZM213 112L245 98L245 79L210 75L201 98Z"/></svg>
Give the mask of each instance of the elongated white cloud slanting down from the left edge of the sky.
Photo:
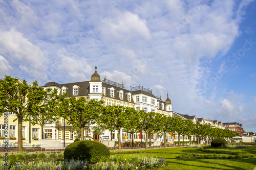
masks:
<svg viewBox="0 0 256 170"><path fill-rule="evenodd" d="M44 71L44 54L40 48L28 41L24 35L15 29L0 31L0 52L10 64L18 64L19 68L31 77L38 78L40 71Z"/></svg>

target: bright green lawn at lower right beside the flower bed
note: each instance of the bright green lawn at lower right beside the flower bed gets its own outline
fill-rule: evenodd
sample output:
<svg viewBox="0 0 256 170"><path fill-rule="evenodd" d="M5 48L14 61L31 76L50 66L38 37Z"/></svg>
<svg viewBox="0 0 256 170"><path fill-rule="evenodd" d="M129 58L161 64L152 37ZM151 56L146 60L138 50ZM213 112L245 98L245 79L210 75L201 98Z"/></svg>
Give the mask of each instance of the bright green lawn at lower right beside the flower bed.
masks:
<svg viewBox="0 0 256 170"><path fill-rule="evenodd" d="M247 148L208 148L206 150L215 153L202 152L197 148L168 148L143 151L147 153L136 153L134 155L148 155L165 158L168 165L160 169L248 170L254 169L256 166L256 146ZM238 158L238 155L247 155L247 158Z"/></svg>

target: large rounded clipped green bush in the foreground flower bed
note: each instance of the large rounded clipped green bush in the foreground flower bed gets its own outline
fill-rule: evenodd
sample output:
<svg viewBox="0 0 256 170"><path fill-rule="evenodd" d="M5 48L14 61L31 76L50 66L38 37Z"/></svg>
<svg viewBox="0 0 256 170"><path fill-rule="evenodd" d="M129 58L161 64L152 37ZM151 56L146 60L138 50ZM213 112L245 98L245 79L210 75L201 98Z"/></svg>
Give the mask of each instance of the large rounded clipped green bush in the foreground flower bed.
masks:
<svg viewBox="0 0 256 170"><path fill-rule="evenodd" d="M109 149L104 144L92 140L73 142L64 151L64 159L76 159L89 161L90 163L96 163L101 158L106 159L109 157Z"/></svg>

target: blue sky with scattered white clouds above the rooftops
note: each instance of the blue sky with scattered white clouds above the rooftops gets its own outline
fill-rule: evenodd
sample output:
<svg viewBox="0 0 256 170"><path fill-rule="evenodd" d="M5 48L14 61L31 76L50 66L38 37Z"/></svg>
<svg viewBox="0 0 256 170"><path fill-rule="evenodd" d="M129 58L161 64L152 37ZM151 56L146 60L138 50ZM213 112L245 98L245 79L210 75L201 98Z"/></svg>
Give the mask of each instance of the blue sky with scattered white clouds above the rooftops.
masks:
<svg viewBox="0 0 256 170"><path fill-rule="evenodd" d="M0 0L0 78L101 79L256 132L256 1Z"/></svg>

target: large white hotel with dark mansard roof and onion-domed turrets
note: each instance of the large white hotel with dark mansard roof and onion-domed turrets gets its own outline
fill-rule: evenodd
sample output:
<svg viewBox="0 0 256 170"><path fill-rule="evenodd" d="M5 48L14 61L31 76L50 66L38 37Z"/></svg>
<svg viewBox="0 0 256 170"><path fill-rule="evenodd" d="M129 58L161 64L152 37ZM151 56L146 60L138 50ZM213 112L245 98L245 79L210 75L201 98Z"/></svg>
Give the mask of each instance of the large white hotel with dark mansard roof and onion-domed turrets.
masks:
<svg viewBox="0 0 256 170"><path fill-rule="evenodd" d="M172 116L172 103L170 102L168 96L164 101L161 98L155 96L152 93L152 90L146 89L143 86L130 87L130 89L125 89L123 84L119 84L106 78L103 81L100 80L100 76L97 73L97 67L95 67L95 72L91 77L90 81L76 82L76 83L67 83L67 84L58 84L55 82L46 83L44 88L57 88L58 94L67 92L68 96L74 96L75 98L80 98L83 96L88 100L94 99L96 101L103 100L104 106L119 105L124 107L134 107L136 110L144 110L145 112L158 112L163 113L168 116ZM47 135L45 139L60 139L63 140L63 128L64 120L59 119L58 123L47 124L44 127L44 132ZM75 137L78 134L74 134L71 131L71 125L68 125L68 120L65 122L65 142L73 142ZM84 136L89 136L94 138L95 141L99 139L110 139L111 133L109 130L105 130L104 135L98 136L94 135L94 126L88 125L84 129ZM117 131L112 132L113 140L117 140ZM122 139L122 141L131 141L131 134L122 132L122 136L128 136L128 139ZM141 141L139 138L139 133L134 135L135 141ZM145 134L142 132L142 140L145 139ZM154 139L157 139L157 135L154 135ZM168 136L168 139L171 139Z"/></svg>

